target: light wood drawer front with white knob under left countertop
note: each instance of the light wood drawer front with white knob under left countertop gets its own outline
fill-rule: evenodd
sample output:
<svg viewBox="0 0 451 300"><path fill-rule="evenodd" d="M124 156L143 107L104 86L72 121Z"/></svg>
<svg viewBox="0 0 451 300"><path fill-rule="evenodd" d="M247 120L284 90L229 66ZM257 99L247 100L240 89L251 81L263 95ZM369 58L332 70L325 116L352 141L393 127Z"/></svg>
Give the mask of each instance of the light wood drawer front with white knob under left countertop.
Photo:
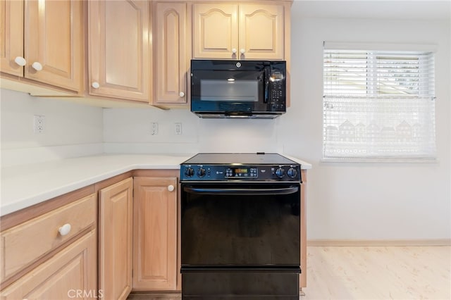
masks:
<svg viewBox="0 0 451 300"><path fill-rule="evenodd" d="M1 232L0 281L94 225L96 213L97 196L91 194ZM58 230L66 224L70 231L61 235Z"/></svg>

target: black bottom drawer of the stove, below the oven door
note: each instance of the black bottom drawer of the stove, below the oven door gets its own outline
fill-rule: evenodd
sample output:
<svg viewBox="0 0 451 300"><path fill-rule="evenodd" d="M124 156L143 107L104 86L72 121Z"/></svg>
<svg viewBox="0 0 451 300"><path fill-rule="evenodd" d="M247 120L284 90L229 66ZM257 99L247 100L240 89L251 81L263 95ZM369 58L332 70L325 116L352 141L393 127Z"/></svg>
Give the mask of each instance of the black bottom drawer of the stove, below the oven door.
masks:
<svg viewBox="0 0 451 300"><path fill-rule="evenodd" d="M299 271L183 273L182 299L299 300Z"/></svg>

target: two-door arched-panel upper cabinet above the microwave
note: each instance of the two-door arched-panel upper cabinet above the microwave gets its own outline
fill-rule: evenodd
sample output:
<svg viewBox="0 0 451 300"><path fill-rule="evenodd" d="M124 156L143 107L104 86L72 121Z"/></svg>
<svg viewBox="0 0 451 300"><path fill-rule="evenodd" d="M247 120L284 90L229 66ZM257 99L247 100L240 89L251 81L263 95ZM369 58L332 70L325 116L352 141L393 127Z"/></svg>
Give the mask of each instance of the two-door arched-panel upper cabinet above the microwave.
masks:
<svg viewBox="0 0 451 300"><path fill-rule="evenodd" d="M194 3L194 58L283 60L287 5Z"/></svg>

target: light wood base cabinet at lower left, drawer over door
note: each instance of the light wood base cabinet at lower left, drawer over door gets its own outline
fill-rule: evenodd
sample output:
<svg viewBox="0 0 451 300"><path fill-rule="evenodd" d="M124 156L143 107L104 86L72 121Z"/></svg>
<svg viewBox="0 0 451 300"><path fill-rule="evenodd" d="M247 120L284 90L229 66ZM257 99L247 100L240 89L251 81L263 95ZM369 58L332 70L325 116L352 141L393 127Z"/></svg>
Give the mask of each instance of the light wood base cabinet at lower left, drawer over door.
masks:
<svg viewBox="0 0 451 300"><path fill-rule="evenodd" d="M72 201L73 195L58 199L69 204L23 222L10 218L4 225L2 218L2 299L70 299L72 290L91 291L86 298L94 299L97 196ZM18 219L40 209L27 208ZM8 227L11 220L17 224Z"/></svg>

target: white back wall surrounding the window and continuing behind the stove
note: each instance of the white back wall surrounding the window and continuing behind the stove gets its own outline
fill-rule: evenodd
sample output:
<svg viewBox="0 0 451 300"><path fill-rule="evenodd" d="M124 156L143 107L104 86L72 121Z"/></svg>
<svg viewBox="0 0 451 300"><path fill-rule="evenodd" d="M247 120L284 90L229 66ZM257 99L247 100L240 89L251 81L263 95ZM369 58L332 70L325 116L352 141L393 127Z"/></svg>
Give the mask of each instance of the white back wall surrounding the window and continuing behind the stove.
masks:
<svg viewBox="0 0 451 300"><path fill-rule="evenodd" d="M447 20L427 20L423 8L433 11L433 18L446 16L446 11L431 10L434 4L428 1L416 2L412 5L416 11L390 20L399 15L388 13L390 2L382 1L383 7L380 1L358 2L294 2L292 107L280 118L202 120L183 110L108 109L106 151L284 152L313 165L307 184L309 239L451 238L449 14ZM398 2L396 11L406 3L410 2ZM324 13L329 6L333 9ZM374 15L380 19L372 19ZM321 162L323 41L438 45L438 163ZM160 128L156 136L150 135L154 120ZM173 134L174 122L183 123L182 136Z"/></svg>

